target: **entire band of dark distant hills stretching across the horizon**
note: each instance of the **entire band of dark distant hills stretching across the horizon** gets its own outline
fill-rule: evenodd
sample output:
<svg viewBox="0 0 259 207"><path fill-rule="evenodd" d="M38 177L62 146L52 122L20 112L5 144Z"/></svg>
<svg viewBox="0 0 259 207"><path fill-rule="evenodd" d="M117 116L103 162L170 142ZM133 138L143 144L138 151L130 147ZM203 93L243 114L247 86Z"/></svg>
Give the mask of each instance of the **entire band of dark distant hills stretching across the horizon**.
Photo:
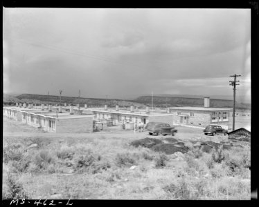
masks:
<svg viewBox="0 0 259 207"><path fill-rule="evenodd" d="M87 104L91 107L102 107L105 104L108 107L115 107L116 105L122 107L137 106L139 108L145 108L145 106L151 106L151 95L141 96L132 100L121 100L121 99L97 99L97 98L80 98L78 97L61 97L62 103L76 105ZM3 95L4 103L15 103L15 102L26 102L26 103L44 103L44 104L58 104L60 103L60 96L54 95L33 95L33 94L22 94L17 97L12 97L10 95ZM6 102L5 102L6 101ZM233 108L233 101L226 99L211 99L211 107L219 108ZM175 97L171 95L170 97L163 96L153 96L153 106L157 108L166 107L179 107L179 106L204 106L203 97ZM238 110L251 110L250 103L240 103L237 101L236 109Z"/></svg>

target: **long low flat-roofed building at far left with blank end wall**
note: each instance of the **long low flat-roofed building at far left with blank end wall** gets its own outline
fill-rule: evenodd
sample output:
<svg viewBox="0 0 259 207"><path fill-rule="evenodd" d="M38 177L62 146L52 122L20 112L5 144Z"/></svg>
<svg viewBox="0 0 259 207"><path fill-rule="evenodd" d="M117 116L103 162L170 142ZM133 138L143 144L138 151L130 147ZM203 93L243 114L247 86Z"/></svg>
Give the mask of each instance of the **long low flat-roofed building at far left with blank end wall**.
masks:
<svg viewBox="0 0 259 207"><path fill-rule="evenodd" d="M46 132L93 132L93 115L71 115L17 107L3 107L3 115Z"/></svg>

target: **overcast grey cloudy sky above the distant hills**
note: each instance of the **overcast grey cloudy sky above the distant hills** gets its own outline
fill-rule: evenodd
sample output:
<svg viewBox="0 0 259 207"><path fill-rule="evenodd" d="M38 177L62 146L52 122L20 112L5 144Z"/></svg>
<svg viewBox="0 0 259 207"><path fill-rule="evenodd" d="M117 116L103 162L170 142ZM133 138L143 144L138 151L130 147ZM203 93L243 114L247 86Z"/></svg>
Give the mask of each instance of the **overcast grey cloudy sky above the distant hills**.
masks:
<svg viewBox="0 0 259 207"><path fill-rule="evenodd" d="M251 95L249 9L3 8L3 92Z"/></svg>

